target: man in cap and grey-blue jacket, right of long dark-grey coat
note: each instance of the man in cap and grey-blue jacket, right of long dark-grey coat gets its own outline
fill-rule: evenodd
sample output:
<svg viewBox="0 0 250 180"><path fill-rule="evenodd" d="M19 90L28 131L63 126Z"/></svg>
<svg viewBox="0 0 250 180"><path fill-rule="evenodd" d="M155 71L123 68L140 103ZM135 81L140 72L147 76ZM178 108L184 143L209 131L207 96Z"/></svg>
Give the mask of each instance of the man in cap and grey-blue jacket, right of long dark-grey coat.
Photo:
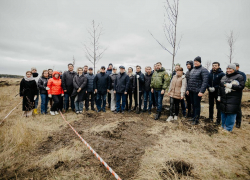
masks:
<svg viewBox="0 0 250 180"><path fill-rule="evenodd" d="M93 68L89 67L89 73L86 75L87 77L87 90L86 90L86 101L85 101L85 109L89 110L89 97L91 96L91 110L95 111L95 93L94 93L94 79L95 75L93 74Z"/></svg>

